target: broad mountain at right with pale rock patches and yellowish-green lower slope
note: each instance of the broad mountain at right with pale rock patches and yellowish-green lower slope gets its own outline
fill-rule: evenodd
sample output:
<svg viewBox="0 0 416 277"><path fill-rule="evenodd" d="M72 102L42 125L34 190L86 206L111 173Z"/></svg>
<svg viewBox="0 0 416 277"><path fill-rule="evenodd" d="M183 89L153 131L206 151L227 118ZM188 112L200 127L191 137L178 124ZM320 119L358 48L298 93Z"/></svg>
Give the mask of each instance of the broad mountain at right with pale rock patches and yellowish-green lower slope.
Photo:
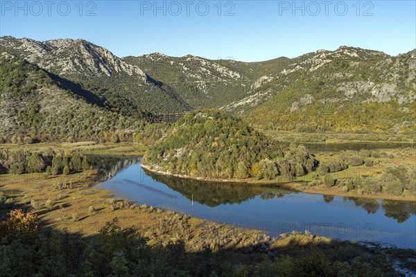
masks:
<svg viewBox="0 0 416 277"><path fill-rule="evenodd" d="M416 50L390 57L341 47L291 66L225 109L268 129L414 132Z"/></svg>

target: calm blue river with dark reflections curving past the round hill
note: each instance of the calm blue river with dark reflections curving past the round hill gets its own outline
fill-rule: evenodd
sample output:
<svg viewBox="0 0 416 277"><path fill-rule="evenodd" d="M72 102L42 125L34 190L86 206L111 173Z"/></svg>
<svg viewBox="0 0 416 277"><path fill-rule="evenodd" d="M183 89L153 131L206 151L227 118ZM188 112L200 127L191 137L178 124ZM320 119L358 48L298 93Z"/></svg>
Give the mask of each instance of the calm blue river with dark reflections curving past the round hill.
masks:
<svg viewBox="0 0 416 277"><path fill-rule="evenodd" d="M139 158L96 159L98 187L137 204L263 229L270 235L309 230L342 240L416 249L416 204L299 193L276 187L191 181L145 172Z"/></svg>

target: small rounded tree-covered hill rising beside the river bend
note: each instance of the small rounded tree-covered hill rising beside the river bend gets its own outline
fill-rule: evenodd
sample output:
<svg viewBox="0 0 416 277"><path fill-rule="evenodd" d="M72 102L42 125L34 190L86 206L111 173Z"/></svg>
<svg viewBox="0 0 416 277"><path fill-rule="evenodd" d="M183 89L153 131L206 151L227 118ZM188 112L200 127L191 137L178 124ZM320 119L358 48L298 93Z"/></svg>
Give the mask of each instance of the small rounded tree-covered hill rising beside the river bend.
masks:
<svg viewBox="0 0 416 277"><path fill-rule="evenodd" d="M144 164L189 177L272 179L269 175L305 175L316 161L303 146L282 149L238 118L201 110L181 118L173 132L146 153Z"/></svg>

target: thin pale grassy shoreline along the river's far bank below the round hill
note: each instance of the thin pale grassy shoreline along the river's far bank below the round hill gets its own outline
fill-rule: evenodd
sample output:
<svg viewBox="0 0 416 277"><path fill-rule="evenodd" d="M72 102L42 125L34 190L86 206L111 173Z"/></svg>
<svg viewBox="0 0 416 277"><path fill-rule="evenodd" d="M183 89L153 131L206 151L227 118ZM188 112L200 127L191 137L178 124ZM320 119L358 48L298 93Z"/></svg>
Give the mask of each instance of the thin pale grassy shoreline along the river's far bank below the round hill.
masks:
<svg viewBox="0 0 416 277"><path fill-rule="evenodd" d="M296 190L300 193L310 193L310 194L319 194L319 195L328 195L328 196L338 196L338 197L354 197L354 198L365 198L365 199L379 199L379 200L395 200L395 201L404 201L404 202L416 202L416 196L408 195L406 197L398 197L395 195L381 195L381 194L365 194L365 195L357 195L356 190L354 193L343 193L340 188L332 187L327 188L324 185L320 185L315 188L306 188L303 186L299 181L288 181L288 182L277 182L272 180L254 180L254 179L207 179L202 177L190 177L187 175L180 175L174 174L169 172L168 170L161 170L159 166L156 165L148 165L141 163L141 168L153 172L157 175L164 175L168 177L177 177L181 179L188 179L188 180L196 180L196 181L207 181L207 182L218 182L218 183L245 183L249 185L257 185L257 186L280 186L282 188L288 188L292 190Z"/></svg>

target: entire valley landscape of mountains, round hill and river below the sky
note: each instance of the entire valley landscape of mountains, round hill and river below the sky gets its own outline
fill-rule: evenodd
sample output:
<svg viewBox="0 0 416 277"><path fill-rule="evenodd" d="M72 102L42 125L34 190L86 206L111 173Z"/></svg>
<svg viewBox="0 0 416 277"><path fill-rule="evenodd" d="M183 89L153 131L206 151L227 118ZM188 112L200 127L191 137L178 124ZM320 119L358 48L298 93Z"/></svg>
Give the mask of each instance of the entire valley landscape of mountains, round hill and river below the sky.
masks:
<svg viewBox="0 0 416 277"><path fill-rule="evenodd" d="M416 274L415 51L239 62L0 37L0 246L60 253L51 276Z"/></svg>

